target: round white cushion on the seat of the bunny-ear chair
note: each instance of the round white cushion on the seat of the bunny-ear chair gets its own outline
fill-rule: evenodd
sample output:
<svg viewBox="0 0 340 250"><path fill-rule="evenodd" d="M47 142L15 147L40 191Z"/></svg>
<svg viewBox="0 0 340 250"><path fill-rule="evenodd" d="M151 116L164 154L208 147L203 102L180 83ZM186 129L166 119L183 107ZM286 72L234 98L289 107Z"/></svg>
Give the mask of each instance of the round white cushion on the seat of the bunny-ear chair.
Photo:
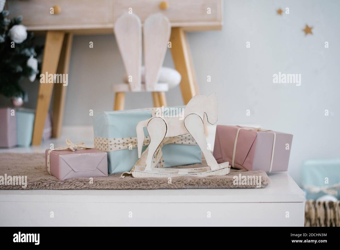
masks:
<svg viewBox="0 0 340 250"><path fill-rule="evenodd" d="M145 67L144 66L141 67L141 72L142 72L142 77L141 77L142 83L145 83ZM180 82L181 82L181 78L182 78L181 74L175 69L168 68L168 67L162 67L159 70L158 82L159 83L168 83L169 89L172 89L172 88L176 87L177 85L179 85ZM126 76L126 73L123 77L123 82L128 83L128 77ZM159 87L157 87L157 88L159 88Z"/></svg>

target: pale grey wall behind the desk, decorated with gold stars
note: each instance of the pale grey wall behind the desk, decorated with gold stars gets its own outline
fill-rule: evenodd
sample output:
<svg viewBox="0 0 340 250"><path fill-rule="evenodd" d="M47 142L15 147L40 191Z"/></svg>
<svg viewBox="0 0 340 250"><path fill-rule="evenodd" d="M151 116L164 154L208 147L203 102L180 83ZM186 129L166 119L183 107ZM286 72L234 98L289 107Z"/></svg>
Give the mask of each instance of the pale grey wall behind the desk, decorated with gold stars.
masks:
<svg viewBox="0 0 340 250"><path fill-rule="evenodd" d="M279 7L289 7L290 14L277 15ZM340 155L339 9L336 0L225 1L221 31L188 34L199 89L217 93L218 124L258 124L292 133L289 172L298 183L302 160ZM314 27L313 35L305 36L305 24ZM170 51L164 65L173 67ZM279 71L301 74L301 86L274 84ZM89 109L112 110L111 85L120 83L123 72L114 35L75 36L64 124L89 125ZM27 106L35 107L38 82L26 86ZM179 87L167 99L181 105ZM149 93L129 93L126 100L127 109L152 106Z"/></svg>

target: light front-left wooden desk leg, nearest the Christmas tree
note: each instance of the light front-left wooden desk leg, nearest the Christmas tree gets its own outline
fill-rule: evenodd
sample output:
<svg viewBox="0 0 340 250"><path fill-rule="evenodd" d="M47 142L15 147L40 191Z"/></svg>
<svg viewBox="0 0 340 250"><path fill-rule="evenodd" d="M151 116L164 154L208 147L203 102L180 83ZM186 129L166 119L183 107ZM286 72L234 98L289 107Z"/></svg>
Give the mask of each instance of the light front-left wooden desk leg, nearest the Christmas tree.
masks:
<svg viewBox="0 0 340 250"><path fill-rule="evenodd" d="M64 36L65 32L63 31L48 31L46 33L41 74L46 74L47 72L47 74L54 75L57 72ZM41 143L47 113L50 108L52 91L53 83L48 83L48 81L46 81L46 83L40 83L35 111L32 145L39 145Z"/></svg>

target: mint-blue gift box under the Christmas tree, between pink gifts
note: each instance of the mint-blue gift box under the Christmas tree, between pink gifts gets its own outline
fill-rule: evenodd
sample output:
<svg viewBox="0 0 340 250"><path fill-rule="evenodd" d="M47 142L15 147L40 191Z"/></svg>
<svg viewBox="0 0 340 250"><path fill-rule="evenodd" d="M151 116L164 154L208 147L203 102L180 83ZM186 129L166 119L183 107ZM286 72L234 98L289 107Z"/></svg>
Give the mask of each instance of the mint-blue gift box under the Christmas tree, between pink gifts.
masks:
<svg viewBox="0 0 340 250"><path fill-rule="evenodd" d="M28 147L32 142L34 109L20 108L16 110L18 146Z"/></svg>

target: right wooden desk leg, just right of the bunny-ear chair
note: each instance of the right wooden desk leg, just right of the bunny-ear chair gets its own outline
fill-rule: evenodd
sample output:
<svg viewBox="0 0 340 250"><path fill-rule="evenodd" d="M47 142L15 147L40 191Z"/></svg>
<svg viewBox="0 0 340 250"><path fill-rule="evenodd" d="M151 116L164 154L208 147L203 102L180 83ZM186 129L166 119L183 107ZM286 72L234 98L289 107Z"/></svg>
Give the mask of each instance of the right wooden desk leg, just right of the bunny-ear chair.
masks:
<svg viewBox="0 0 340 250"><path fill-rule="evenodd" d="M198 87L195 72L193 70L190 49L186 34L182 28L171 29L171 53L175 68L180 72L180 83L184 105L196 94Z"/></svg>

